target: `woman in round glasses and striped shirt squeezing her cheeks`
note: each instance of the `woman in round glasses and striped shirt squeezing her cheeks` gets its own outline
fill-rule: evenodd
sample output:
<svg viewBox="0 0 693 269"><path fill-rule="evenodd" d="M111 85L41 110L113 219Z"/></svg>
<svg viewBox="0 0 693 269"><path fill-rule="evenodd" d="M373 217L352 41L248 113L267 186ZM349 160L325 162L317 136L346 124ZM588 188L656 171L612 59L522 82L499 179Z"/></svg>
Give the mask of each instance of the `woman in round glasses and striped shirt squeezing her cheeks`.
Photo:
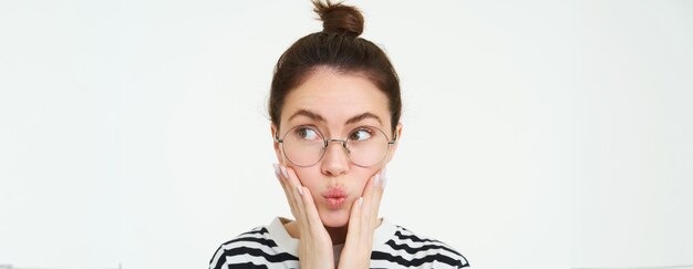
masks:
<svg viewBox="0 0 693 269"><path fill-rule="evenodd" d="M387 56L353 7L314 2L323 31L279 59L269 99L275 174L296 220L223 244L220 268L464 268L447 245L377 218L402 102Z"/></svg>

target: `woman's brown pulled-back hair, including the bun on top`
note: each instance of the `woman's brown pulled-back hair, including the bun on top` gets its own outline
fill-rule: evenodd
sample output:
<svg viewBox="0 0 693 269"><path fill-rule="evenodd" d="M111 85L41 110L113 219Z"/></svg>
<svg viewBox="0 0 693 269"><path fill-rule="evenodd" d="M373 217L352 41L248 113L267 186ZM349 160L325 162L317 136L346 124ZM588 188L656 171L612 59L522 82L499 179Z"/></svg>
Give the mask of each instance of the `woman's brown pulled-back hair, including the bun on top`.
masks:
<svg viewBox="0 0 693 269"><path fill-rule="evenodd" d="M364 75L387 96L394 134L402 114L400 80L387 55L371 41L359 38L363 32L361 11L330 0L313 0L313 6L323 30L299 39L279 58L269 96L271 122L279 128L281 107L289 92L318 68L330 68Z"/></svg>

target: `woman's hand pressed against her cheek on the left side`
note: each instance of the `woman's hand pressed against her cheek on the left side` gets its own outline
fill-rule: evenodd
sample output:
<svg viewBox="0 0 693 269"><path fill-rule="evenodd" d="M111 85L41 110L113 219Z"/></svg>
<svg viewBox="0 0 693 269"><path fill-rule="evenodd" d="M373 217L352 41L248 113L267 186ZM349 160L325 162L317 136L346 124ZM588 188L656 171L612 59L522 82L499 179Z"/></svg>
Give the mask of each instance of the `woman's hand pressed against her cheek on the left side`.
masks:
<svg viewBox="0 0 693 269"><path fill-rule="evenodd" d="M324 229L313 197L303 187L293 169L275 164L275 175L281 183L291 214L299 230L299 263L306 269L334 268L332 239Z"/></svg>

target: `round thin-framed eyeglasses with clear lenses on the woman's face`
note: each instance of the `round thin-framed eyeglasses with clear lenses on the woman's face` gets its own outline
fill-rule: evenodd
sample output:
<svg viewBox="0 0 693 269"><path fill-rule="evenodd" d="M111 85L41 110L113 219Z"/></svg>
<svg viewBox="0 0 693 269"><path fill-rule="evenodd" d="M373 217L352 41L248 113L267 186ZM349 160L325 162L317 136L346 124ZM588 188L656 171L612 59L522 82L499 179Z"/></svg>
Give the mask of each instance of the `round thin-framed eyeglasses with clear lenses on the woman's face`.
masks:
<svg viewBox="0 0 693 269"><path fill-rule="evenodd" d="M320 162L332 142L342 144L353 164L361 167L373 166L385 159L390 146L396 139L395 136L390 141L382 130L373 126L354 128L344 139L324 138L317 127L310 125L292 127L281 139L278 133L275 136L275 142L281 144L285 157L301 167L313 166Z"/></svg>

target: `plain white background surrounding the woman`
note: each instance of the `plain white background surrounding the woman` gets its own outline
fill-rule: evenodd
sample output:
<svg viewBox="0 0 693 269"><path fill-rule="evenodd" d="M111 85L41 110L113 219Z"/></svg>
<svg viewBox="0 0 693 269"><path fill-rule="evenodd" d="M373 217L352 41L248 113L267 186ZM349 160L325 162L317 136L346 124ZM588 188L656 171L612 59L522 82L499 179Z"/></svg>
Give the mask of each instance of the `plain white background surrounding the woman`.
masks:
<svg viewBox="0 0 693 269"><path fill-rule="evenodd" d="M404 94L381 213L474 268L693 263L693 2L350 1ZM0 2L0 263L206 268L290 216L309 1Z"/></svg>

